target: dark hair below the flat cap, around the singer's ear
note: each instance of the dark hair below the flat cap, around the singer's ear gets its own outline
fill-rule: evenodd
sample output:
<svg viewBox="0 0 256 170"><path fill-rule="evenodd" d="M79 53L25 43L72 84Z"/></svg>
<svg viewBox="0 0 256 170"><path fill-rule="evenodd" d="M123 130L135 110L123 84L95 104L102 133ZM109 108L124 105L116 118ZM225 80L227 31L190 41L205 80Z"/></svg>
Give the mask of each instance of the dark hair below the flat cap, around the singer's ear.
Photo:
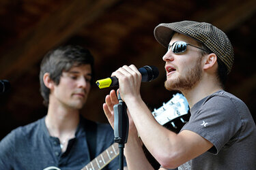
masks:
<svg viewBox="0 0 256 170"><path fill-rule="evenodd" d="M201 55L202 56L205 55L205 54L214 53L209 48L207 48L204 44L202 44L202 43L199 43L199 44L200 44L201 48L208 51L208 52L205 52L205 51L201 50ZM221 87L225 88L225 83L227 82L227 67L223 63L223 61L221 61L221 59L218 58L218 56L217 56L217 63L218 63L217 78L221 82Z"/></svg>

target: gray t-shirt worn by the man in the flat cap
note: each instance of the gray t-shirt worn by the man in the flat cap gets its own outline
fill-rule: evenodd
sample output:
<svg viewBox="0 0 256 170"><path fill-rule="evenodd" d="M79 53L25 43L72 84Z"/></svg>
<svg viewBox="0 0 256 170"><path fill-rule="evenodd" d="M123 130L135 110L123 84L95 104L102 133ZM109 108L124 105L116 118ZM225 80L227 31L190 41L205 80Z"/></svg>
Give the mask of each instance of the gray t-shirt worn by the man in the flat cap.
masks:
<svg viewBox="0 0 256 170"><path fill-rule="evenodd" d="M190 160L191 169L256 169L256 127L248 107L219 90L190 109L181 131L193 131L214 146Z"/></svg>

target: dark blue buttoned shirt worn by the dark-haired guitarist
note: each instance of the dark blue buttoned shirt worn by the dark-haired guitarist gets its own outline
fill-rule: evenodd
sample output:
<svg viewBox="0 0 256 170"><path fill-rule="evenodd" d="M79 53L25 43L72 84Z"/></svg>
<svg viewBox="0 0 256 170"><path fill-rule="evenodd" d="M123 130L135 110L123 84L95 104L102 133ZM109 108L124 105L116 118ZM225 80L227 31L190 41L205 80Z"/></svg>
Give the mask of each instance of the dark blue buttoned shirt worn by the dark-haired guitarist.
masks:
<svg viewBox="0 0 256 170"><path fill-rule="evenodd" d="M59 139L51 137L44 118L15 129L0 141L0 169L42 170L58 167L61 170L81 169L90 162L85 124L81 118L76 137L70 139L66 152L61 152ZM113 143L113 129L109 124L96 124L96 156ZM126 165L126 163L125 163ZM119 158L106 165L119 169Z"/></svg>

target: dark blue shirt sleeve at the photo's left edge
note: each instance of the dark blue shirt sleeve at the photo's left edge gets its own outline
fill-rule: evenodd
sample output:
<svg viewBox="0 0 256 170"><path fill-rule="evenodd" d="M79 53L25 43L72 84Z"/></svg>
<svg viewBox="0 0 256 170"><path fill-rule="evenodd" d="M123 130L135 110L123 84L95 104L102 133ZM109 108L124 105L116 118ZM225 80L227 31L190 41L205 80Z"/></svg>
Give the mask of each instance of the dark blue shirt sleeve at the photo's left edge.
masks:
<svg viewBox="0 0 256 170"><path fill-rule="evenodd" d="M0 141L1 169L14 169L12 167L12 160L14 160L14 137L14 131L12 131Z"/></svg>

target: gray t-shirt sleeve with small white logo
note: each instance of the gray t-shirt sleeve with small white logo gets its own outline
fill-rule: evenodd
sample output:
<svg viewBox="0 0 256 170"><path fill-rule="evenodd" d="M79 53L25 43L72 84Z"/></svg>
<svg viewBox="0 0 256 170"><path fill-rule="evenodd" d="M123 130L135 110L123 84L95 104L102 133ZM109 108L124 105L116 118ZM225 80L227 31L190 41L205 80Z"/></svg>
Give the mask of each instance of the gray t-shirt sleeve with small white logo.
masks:
<svg viewBox="0 0 256 170"><path fill-rule="evenodd" d="M210 141L214 147L208 150L218 154L223 146L235 142L242 128L242 121L236 105L225 96L213 96L205 100L191 114L189 122L182 128L201 135Z"/></svg>

